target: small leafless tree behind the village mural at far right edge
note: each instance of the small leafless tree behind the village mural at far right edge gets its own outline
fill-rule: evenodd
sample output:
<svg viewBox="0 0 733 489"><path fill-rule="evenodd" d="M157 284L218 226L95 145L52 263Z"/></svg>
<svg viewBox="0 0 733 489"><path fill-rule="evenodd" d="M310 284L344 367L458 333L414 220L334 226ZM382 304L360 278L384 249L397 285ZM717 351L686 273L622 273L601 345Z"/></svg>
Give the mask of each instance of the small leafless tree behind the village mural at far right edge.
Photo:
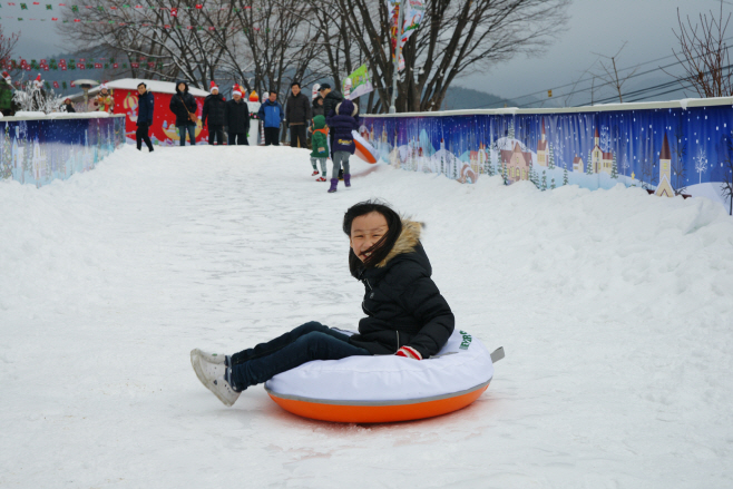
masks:
<svg viewBox="0 0 733 489"><path fill-rule="evenodd" d="M680 41L680 52L674 52L684 67L685 75L675 77L684 88L692 85L701 97L727 97L733 95L733 71L725 43L725 30L731 14L723 17L723 2L717 17L710 12L700 14L700 25L692 25L690 16L686 22L680 17L680 32L673 32Z"/></svg>

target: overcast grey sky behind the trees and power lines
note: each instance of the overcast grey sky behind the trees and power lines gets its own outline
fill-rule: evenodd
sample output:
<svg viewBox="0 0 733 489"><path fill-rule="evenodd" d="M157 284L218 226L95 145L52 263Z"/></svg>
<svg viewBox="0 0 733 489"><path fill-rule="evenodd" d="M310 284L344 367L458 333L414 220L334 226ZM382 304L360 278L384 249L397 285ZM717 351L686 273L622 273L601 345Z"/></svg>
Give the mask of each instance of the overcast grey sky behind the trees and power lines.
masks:
<svg viewBox="0 0 733 489"><path fill-rule="evenodd" d="M7 2L4 2L7 3ZM31 3L31 2L28 2ZM19 4L19 3L18 3ZM592 52L614 55L623 41L628 41L618 58L619 67L629 67L670 56L678 42L672 29L677 27L677 7L684 16L697 18L701 12L713 9L717 12L720 0L575 0L568 9L569 19L555 43L541 56L535 58L518 57L496 67L487 75L473 75L460 79L457 85L488 91L501 97L516 98L526 94L559 87L577 80L597 59ZM69 47L63 45L56 33L52 22L23 21L7 19L7 16L19 14L19 7L3 6L2 26L6 35L21 31L16 57L40 59L56 52L65 52ZM730 2L724 3L725 14L733 11ZM30 6L31 9L38 8ZM56 3L55 3L55 8ZM26 18L32 17L23 11ZM33 11L39 18L50 19L51 12ZM60 12L55 11L55 14ZM733 25L726 32L733 37ZM656 68L668 63L667 59L657 63L645 65L641 70ZM600 71L596 69L596 71ZM670 80L664 72L651 74L629 80L625 89L638 89ZM565 90L555 90L557 98ZM603 96L603 94L596 94ZM681 96L682 94L672 94ZM688 94L692 96L692 94ZM670 95L661 96L666 98ZM597 98L596 98L597 99ZM584 101L574 98L570 104Z"/></svg>

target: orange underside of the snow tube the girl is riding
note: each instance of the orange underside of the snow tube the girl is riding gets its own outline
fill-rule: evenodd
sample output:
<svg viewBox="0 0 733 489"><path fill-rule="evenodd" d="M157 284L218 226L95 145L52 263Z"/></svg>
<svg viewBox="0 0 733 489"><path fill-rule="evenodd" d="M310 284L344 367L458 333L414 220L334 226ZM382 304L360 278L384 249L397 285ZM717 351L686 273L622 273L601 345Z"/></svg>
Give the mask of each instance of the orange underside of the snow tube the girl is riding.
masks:
<svg viewBox="0 0 733 489"><path fill-rule="evenodd" d="M476 401L488 387L488 384L481 385L475 391L453 398L391 405L329 404L284 399L271 391L267 393L285 411L303 418L341 423L389 423L432 418L458 411Z"/></svg>

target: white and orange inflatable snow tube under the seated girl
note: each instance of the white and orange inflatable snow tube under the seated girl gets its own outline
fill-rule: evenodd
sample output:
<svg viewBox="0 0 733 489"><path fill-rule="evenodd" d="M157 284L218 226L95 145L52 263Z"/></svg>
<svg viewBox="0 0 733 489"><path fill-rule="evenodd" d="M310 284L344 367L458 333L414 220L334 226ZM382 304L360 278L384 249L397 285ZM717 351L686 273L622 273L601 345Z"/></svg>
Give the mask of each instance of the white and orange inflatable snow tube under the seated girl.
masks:
<svg viewBox="0 0 733 489"><path fill-rule="evenodd" d="M353 334L353 332L344 332ZM323 421L383 423L431 418L476 401L493 378L488 350L463 331L427 360L395 355L316 360L273 376L285 411Z"/></svg>

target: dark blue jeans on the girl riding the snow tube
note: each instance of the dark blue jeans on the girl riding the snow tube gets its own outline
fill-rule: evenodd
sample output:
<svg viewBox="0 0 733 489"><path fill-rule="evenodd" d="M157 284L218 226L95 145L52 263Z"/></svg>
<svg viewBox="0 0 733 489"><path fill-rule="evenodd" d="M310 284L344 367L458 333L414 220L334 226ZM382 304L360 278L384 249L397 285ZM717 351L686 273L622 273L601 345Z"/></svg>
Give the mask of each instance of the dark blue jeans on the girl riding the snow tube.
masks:
<svg viewBox="0 0 733 489"><path fill-rule="evenodd" d="M353 355L371 353L349 343L348 335L312 321L267 343L233 354L232 387L243 391L312 360L340 360Z"/></svg>

